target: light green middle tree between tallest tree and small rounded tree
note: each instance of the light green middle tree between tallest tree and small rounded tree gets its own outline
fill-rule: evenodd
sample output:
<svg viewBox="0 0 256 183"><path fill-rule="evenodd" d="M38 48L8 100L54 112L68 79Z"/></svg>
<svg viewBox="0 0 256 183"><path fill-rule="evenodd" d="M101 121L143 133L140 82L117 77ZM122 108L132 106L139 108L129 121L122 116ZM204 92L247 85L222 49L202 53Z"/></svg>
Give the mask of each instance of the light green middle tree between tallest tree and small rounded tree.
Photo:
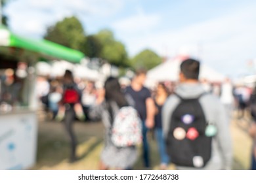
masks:
<svg viewBox="0 0 256 183"><path fill-rule="evenodd" d="M112 31L103 29L102 31L99 31L95 36L100 44L102 44L100 58L106 59L113 65L119 67L129 66L125 46L122 42L116 41Z"/></svg>

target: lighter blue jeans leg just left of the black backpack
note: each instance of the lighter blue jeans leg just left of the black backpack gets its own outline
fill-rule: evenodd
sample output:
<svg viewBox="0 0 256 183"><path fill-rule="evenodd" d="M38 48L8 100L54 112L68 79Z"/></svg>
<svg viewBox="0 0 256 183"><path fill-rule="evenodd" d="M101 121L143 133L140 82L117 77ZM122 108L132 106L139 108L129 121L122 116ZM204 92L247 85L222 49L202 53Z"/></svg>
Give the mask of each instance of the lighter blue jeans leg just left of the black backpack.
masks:
<svg viewBox="0 0 256 183"><path fill-rule="evenodd" d="M163 129L157 127L155 129L156 141L158 142L158 151L160 153L161 163L167 165L169 163L169 156L165 151L165 141L163 139Z"/></svg>

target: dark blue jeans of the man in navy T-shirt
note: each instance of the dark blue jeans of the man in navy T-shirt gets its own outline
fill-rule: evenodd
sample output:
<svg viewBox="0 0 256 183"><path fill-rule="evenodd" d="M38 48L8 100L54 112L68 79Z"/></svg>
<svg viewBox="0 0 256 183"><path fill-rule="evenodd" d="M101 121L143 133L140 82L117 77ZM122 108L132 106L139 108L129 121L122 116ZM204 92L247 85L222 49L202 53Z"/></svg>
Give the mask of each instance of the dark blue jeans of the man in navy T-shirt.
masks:
<svg viewBox="0 0 256 183"><path fill-rule="evenodd" d="M150 156L149 156L149 145L146 138L148 128L146 127L145 121L142 122L142 142L143 142L143 160L146 168L150 167Z"/></svg>

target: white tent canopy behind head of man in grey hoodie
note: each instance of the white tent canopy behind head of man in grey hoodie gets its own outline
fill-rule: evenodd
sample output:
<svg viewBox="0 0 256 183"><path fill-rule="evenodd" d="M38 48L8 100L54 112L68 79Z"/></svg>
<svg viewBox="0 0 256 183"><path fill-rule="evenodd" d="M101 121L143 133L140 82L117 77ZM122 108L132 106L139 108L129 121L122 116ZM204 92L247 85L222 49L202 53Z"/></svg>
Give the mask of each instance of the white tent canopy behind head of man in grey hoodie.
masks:
<svg viewBox="0 0 256 183"><path fill-rule="evenodd" d="M152 85L154 82L177 81L182 60L182 58L170 59L148 71L146 85ZM209 82L223 82L225 76L202 63L200 79L206 79Z"/></svg>

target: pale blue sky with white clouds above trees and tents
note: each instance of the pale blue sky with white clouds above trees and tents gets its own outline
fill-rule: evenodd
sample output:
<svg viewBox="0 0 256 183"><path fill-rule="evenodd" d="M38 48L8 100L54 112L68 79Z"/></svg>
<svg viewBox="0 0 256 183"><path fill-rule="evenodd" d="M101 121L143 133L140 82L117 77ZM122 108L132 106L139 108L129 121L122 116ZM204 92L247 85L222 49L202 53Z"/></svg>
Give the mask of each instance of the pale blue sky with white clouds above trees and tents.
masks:
<svg viewBox="0 0 256 183"><path fill-rule="evenodd" d="M74 15L87 35L112 30L130 57L149 48L168 58L188 54L232 78L256 71L253 0L11 0L4 12L26 37L40 39Z"/></svg>

